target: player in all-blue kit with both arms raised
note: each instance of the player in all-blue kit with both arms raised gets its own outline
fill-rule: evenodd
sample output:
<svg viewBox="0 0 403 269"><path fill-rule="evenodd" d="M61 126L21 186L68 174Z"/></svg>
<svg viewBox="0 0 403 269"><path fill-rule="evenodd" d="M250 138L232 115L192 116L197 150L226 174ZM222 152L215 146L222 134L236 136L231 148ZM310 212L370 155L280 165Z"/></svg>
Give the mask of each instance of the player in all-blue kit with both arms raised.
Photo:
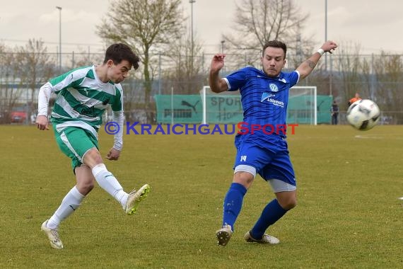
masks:
<svg viewBox="0 0 403 269"><path fill-rule="evenodd" d="M211 91L220 93L239 89L245 127L240 130L242 134L238 132L235 136L237 154L234 176L223 202L223 225L216 231L218 245L228 244L243 198L257 173L271 185L276 198L264 207L255 226L247 231L244 239L260 244L279 244L279 239L265 232L295 207L297 200L296 179L288 154L286 134L281 131L286 126L288 91L310 74L325 52L332 53L336 48L335 42L325 42L291 73L281 71L286 64L287 47L278 40L271 40L264 45L262 70L245 67L221 78L219 71L224 66L226 55L216 54L211 60Z"/></svg>

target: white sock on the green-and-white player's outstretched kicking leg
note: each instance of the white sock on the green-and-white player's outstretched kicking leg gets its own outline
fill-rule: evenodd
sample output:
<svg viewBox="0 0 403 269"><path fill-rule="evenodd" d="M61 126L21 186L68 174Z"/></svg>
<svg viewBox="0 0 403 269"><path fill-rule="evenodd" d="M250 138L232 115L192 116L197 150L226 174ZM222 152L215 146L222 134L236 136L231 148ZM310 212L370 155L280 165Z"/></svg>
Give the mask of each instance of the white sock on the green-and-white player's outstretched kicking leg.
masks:
<svg viewBox="0 0 403 269"><path fill-rule="evenodd" d="M120 202L120 205L126 205L129 194L123 191L122 185L110 171L107 171L105 164L97 164L93 167L92 172L101 188L112 195L117 202Z"/></svg>

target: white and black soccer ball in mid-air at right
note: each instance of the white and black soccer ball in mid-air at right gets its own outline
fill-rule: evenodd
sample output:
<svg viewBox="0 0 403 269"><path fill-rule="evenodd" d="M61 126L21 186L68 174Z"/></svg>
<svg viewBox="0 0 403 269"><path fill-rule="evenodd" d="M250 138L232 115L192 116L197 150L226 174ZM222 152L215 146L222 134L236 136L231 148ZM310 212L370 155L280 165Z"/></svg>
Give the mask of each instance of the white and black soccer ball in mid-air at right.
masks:
<svg viewBox="0 0 403 269"><path fill-rule="evenodd" d="M346 113L347 121L354 128L366 131L378 124L380 110L378 105L368 99L352 103Z"/></svg>

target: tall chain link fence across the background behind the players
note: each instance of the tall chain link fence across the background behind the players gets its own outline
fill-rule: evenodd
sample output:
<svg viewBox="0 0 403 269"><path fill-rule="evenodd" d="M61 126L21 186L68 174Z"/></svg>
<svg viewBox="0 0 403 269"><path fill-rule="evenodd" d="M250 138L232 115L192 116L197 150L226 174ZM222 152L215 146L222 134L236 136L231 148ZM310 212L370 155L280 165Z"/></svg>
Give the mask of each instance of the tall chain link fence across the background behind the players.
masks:
<svg viewBox="0 0 403 269"><path fill-rule="evenodd" d="M260 68L261 52L245 51L226 55L221 76L247 65ZM214 54L172 55L153 53L150 57L151 91L146 94L144 66L132 71L122 86L127 120L153 123L156 121L156 94L197 94L208 85L208 72ZM308 55L309 56L309 55ZM287 54L286 70L298 67L306 55ZM33 62L23 59L42 59ZM52 78L76 67L101 64L103 53L21 55L0 53L0 123L32 124L37 112L40 86ZM18 59L18 60L17 60ZM341 111L347 110L349 98L356 92L362 98L378 103L383 124L403 123L403 55L327 55L313 74L298 86L317 86L317 94L333 96ZM326 63L326 64L325 64ZM146 96L149 96L146 100ZM329 108L330 110L330 108ZM344 113L339 116L346 123ZM330 123L330 122L329 122Z"/></svg>

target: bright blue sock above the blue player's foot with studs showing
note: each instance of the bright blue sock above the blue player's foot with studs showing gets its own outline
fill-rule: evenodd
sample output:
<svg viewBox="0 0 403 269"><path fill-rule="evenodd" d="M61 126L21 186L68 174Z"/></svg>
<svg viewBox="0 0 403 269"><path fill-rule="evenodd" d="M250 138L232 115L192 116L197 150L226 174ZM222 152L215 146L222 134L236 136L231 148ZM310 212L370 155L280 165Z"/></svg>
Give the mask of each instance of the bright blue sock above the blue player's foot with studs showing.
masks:
<svg viewBox="0 0 403 269"><path fill-rule="evenodd" d="M223 226L228 224L234 230L235 220L240 213L247 189L240 183L232 183L224 199Z"/></svg>

